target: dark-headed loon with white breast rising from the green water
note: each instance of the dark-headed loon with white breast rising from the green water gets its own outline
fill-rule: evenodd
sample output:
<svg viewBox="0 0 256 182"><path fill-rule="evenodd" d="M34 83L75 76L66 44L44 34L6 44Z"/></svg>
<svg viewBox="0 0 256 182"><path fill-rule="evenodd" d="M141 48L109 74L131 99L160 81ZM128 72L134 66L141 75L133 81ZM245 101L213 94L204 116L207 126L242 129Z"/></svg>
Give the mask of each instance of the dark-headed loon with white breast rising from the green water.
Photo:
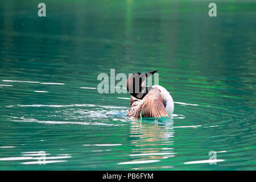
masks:
<svg viewBox="0 0 256 182"><path fill-rule="evenodd" d="M174 112L174 100L170 93L160 85L146 86L146 78L155 72L157 70L148 73L133 73L127 78L126 88L131 94L127 117L133 119L171 117Z"/></svg>

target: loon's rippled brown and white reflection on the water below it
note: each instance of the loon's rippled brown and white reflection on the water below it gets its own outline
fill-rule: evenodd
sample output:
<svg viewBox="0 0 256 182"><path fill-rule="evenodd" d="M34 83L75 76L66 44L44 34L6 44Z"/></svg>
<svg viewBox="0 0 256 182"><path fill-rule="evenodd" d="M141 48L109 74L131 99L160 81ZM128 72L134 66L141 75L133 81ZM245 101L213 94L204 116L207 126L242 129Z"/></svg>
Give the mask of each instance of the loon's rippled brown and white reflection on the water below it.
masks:
<svg viewBox="0 0 256 182"><path fill-rule="evenodd" d="M158 162L161 159L175 156L173 120L162 122L130 123L130 162L122 164L138 164Z"/></svg>

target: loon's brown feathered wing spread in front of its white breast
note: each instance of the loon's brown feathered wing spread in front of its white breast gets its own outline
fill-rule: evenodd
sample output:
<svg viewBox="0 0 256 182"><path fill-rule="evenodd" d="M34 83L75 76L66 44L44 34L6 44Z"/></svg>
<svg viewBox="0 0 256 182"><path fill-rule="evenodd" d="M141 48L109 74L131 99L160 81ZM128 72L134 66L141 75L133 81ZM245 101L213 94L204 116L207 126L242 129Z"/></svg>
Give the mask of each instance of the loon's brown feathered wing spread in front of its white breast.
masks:
<svg viewBox="0 0 256 182"><path fill-rule="evenodd" d="M141 109L142 117L170 118L163 105L161 91L158 88L152 88L143 98L144 102Z"/></svg>

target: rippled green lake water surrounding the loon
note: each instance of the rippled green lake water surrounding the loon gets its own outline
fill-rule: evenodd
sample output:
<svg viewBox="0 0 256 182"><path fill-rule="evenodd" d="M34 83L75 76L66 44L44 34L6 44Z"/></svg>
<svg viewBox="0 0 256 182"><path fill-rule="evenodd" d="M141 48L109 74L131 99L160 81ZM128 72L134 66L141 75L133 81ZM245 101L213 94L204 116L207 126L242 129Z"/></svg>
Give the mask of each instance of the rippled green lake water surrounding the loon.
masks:
<svg viewBox="0 0 256 182"><path fill-rule="evenodd" d="M215 2L1 1L0 169L255 170L256 3ZM88 89L110 69L158 69L173 118Z"/></svg>

